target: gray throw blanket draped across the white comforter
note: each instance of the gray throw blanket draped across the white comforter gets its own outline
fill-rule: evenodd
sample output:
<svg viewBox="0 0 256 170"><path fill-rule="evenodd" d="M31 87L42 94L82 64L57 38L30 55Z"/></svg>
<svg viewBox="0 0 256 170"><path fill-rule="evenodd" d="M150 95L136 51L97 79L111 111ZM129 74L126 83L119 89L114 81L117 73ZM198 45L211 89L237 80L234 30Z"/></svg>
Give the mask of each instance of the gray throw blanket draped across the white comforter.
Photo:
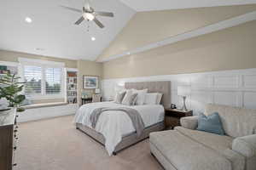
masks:
<svg viewBox="0 0 256 170"><path fill-rule="evenodd" d="M96 127L96 122L104 111L124 111L130 118L133 127L136 130L137 137L140 137L144 130L144 122L142 116L135 109L131 109L128 107L118 107L118 108L96 108L92 111L90 115L91 127Z"/></svg>

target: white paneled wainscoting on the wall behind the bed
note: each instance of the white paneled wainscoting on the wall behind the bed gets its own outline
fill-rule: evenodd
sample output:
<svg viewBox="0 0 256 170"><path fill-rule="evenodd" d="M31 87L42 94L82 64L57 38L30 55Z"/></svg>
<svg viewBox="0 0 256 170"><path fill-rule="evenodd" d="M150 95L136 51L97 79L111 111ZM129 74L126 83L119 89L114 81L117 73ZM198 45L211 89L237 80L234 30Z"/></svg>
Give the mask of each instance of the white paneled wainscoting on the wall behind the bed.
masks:
<svg viewBox="0 0 256 170"><path fill-rule="evenodd" d="M103 99L113 99L115 88L125 82L154 81L171 81L172 103L179 107L182 98L177 96L177 86L190 85L191 95L187 99L187 106L195 115L203 112L207 103L256 109L256 69L104 79Z"/></svg>

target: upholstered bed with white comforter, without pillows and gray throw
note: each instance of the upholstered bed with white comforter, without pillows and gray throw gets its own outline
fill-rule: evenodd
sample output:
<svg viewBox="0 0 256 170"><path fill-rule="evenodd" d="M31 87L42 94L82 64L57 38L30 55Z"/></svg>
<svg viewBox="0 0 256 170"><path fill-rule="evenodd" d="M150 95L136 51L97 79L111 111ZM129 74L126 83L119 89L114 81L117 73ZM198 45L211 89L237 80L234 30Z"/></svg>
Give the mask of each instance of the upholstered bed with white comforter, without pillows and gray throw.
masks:
<svg viewBox="0 0 256 170"><path fill-rule="evenodd" d="M122 111L104 112L100 116L96 127L92 128L86 113L98 107L119 107L124 106L113 102L99 102L82 105L77 112L74 122L80 131L86 133L100 144L105 145L108 155L116 155L120 150L136 144L148 138L149 133L160 131L165 128L164 108L171 104L171 82L125 82L126 89L145 89L148 93L163 94L161 105L134 105L132 107L139 111L143 118L145 128L143 134L137 137L136 130L132 126L131 119Z"/></svg>

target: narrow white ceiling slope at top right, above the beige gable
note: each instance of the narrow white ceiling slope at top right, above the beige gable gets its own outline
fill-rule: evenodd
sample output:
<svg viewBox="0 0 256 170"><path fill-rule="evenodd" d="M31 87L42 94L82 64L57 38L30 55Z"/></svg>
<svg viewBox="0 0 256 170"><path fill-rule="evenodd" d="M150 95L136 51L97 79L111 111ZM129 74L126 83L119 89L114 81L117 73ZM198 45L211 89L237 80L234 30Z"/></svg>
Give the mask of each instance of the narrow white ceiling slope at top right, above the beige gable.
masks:
<svg viewBox="0 0 256 170"><path fill-rule="evenodd" d="M256 3L256 0L120 0L136 11L200 8Z"/></svg>

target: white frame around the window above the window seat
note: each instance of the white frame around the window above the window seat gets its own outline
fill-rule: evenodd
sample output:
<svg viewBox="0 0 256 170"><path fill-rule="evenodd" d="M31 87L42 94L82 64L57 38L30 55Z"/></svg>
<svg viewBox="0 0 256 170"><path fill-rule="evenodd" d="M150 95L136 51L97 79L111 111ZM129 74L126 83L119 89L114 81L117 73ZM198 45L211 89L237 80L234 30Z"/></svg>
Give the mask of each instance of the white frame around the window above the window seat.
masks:
<svg viewBox="0 0 256 170"><path fill-rule="evenodd" d="M55 62L55 61L47 61L41 59L26 59L26 58L19 58L20 62L20 72L21 72L21 79L25 81L24 75L24 66L25 65L35 65L42 67L42 81L41 81L41 94L28 94L27 98L32 100L39 100L39 99L65 99L65 68L64 63L62 62ZM61 92L60 94L46 94L45 89L45 69L46 68L61 68ZM25 92L23 92L25 93Z"/></svg>

